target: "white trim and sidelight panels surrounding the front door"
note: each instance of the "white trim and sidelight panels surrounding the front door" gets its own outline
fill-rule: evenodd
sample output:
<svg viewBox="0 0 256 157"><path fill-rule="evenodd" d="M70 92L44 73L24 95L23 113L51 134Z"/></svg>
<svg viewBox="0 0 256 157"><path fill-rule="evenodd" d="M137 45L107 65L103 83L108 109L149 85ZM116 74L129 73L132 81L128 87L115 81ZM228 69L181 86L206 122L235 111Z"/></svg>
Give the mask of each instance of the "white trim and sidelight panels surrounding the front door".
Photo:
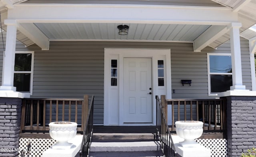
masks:
<svg viewBox="0 0 256 157"><path fill-rule="evenodd" d="M170 49L119 49L105 48L104 53L104 125L143 125L123 123L123 72L124 58L152 58L152 102L153 123L156 124L155 95L166 95L172 98L171 93L171 60ZM110 83L111 60L118 60L118 85L113 87ZM164 86L158 86L158 60L164 60ZM116 100L113 100L116 99ZM144 124L150 125L150 124Z"/></svg>

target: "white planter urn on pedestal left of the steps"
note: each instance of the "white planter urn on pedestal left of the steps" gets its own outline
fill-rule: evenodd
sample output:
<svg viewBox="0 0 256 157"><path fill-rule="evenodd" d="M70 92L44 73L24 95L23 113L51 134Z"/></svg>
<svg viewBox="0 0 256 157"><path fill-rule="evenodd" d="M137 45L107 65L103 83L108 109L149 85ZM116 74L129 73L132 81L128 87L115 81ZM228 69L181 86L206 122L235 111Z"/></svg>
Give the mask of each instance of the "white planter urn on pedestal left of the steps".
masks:
<svg viewBox="0 0 256 157"><path fill-rule="evenodd" d="M76 136L77 123L69 121L59 121L49 123L50 136L58 143L52 146L52 149L70 149L72 143L68 140Z"/></svg>

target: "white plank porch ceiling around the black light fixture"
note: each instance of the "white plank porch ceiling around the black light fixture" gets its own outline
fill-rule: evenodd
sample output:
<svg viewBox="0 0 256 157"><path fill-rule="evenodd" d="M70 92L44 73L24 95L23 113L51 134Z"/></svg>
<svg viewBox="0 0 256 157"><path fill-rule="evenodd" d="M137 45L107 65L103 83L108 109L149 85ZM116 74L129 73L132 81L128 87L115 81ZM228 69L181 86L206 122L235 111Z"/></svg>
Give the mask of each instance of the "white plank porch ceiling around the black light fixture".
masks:
<svg viewBox="0 0 256 157"><path fill-rule="evenodd" d="M127 24L127 36L118 35L114 23L36 23L50 40L154 40L192 42L209 25Z"/></svg>

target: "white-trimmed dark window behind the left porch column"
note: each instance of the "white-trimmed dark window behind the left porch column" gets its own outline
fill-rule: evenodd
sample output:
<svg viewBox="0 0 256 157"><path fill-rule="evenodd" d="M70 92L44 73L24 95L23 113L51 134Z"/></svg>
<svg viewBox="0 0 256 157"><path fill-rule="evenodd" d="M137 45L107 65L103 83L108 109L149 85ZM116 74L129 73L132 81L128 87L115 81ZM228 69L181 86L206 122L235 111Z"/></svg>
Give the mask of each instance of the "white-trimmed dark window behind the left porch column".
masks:
<svg viewBox="0 0 256 157"><path fill-rule="evenodd" d="M32 94L34 68L34 52L15 53L14 87L16 91Z"/></svg>

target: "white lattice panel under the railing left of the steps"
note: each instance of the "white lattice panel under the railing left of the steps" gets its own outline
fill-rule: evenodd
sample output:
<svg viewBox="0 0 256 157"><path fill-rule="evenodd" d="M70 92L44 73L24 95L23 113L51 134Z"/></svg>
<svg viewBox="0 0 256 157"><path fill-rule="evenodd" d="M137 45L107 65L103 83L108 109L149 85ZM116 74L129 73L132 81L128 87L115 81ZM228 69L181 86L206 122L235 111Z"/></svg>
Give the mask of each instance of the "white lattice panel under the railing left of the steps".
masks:
<svg viewBox="0 0 256 157"><path fill-rule="evenodd" d="M19 141L19 157L41 157L46 149L57 143L54 139L21 138Z"/></svg>

